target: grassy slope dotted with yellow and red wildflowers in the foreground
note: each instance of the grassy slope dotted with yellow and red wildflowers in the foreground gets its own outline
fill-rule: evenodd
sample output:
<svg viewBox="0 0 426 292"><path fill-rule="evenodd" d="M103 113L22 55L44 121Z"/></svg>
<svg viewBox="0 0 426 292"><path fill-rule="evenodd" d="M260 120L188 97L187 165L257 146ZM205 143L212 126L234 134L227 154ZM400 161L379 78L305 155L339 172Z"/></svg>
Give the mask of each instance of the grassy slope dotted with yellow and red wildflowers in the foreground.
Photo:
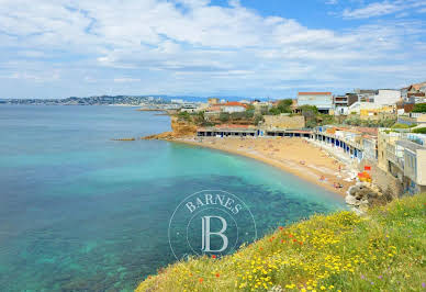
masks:
<svg viewBox="0 0 426 292"><path fill-rule="evenodd" d="M426 291L426 193L315 215L222 258L192 258L136 291Z"/></svg>

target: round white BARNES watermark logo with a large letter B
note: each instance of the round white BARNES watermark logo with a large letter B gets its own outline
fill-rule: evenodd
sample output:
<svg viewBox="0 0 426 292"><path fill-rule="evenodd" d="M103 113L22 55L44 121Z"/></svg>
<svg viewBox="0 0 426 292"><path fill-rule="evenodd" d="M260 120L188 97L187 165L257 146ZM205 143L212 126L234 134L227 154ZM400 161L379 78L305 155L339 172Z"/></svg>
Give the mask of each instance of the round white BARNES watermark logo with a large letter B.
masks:
<svg viewBox="0 0 426 292"><path fill-rule="evenodd" d="M233 254L257 239L255 218L243 200L225 191L188 195L169 221L169 244L177 260Z"/></svg>

